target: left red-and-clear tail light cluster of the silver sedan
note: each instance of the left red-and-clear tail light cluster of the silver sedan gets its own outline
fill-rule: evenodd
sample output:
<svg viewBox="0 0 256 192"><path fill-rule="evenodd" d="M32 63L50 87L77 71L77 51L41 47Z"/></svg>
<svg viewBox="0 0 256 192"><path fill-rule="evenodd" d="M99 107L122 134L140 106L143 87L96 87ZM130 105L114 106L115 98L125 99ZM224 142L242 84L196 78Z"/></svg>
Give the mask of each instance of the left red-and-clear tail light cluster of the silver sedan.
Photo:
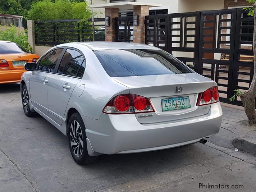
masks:
<svg viewBox="0 0 256 192"><path fill-rule="evenodd" d="M154 112L148 98L134 94L118 95L111 99L103 109L107 114L129 114Z"/></svg>

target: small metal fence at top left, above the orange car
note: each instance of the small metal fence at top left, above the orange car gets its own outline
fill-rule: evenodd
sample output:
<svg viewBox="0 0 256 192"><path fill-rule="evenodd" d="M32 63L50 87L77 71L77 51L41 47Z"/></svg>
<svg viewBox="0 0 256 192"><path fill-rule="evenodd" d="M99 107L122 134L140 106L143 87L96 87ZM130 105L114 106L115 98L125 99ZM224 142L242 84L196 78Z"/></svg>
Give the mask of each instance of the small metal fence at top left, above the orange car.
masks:
<svg viewBox="0 0 256 192"><path fill-rule="evenodd" d="M23 17L17 15L0 14L0 25L1 26L16 26L23 27Z"/></svg>

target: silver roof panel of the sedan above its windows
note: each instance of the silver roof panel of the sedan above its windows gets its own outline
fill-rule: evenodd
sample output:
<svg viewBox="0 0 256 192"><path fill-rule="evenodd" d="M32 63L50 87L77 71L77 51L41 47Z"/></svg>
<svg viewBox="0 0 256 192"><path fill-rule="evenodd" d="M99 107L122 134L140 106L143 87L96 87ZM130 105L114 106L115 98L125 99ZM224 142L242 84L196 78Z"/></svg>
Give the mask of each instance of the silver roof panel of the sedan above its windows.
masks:
<svg viewBox="0 0 256 192"><path fill-rule="evenodd" d="M105 42L105 41L75 42L75 43L60 44L58 46L70 45L75 47L77 44L85 45L93 51L105 50L105 49L155 49L155 50L158 50L157 47L149 46L145 44L135 44L135 43L126 43L126 42Z"/></svg>

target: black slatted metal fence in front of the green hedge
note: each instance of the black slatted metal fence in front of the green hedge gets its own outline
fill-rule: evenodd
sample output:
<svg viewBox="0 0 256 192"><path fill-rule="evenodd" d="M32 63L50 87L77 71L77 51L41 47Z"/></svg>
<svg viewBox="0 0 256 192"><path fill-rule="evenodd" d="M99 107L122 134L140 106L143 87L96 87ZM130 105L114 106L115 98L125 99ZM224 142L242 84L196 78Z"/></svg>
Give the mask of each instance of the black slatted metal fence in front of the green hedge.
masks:
<svg viewBox="0 0 256 192"><path fill-rule="evenodd" d="M105 18L95 18L95 41L105 41ZM67 42L92 41L91 19L35 20L36 45L58 45Z"/></svg>

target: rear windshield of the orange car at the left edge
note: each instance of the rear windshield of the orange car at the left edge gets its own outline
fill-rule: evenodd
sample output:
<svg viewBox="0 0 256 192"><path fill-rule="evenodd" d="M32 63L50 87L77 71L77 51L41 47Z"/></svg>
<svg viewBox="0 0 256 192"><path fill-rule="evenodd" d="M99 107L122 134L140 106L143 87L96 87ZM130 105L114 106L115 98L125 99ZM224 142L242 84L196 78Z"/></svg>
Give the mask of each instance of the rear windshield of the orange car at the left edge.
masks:
<svg viewBox="0 0 256 192"><path fill-rule="evenodd" d="M0 54L28 53L25 49L13 42L0 42Z"/></svg>

